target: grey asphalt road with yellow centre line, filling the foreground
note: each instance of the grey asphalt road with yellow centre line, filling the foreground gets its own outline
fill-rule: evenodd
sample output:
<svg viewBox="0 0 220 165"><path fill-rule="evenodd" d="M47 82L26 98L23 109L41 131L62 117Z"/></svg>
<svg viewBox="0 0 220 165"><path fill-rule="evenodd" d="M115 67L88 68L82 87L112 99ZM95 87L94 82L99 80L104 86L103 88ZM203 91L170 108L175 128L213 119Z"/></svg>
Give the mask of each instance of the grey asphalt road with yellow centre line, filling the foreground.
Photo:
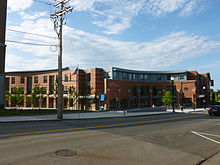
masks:
<svg viewBox="0 0 220 165"><path fill-rule="evenodd" d="M0 165L219 165L219 153L220 117L206 114L0 124Z"/></svg>

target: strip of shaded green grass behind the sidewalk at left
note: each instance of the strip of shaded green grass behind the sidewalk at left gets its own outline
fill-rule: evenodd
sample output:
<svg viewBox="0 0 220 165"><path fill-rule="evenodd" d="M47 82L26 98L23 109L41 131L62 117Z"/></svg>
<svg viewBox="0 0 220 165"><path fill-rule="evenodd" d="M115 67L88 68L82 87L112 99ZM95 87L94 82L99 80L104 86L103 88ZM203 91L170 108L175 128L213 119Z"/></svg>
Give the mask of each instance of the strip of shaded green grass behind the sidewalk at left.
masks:
<svg viewBox="0 0 220 165"><path fill-rule="evenodd" d="M79 113L88 112L85 110L64 110L63 113ZM16 116L16 115L43 115L43 114L56 114L57 110L51 109L0 109L0 116Z"/></svg>

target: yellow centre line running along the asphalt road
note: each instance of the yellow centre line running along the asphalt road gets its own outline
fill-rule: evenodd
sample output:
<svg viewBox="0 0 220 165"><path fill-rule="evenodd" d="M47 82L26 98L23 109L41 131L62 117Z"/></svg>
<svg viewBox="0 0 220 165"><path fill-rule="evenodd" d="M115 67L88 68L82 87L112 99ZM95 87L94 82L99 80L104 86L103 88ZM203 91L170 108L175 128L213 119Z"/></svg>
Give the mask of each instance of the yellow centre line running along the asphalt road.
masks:
<svg viewBox="0 0 220 165"><path fill-rule="evenodd" d="M105 128L105 127L106 128L107 127L117 127L117 126L145 124L145 123L153 123L153 122L161 122L161 121L180 120L180 119L193 118L193 117L199 117L199 116L204 116L204 115L193 115L193 116L176 117L176 118L169 118L169 119L158 119L158 120L150 120L150 121L140 121L140 122L132 122L132 123L121 123L121 124L100 125L100 126L90 126L90 127L54 129L54 130L35 131L35 132L21 132L21 133L4 134L4 135L0 135L0 137L10 137L10 136L18 136L18 135L31 135L31 134L41 134L41 133L54 133L54 132L64 132L64 131L76 131L76 130Z"/></svg>

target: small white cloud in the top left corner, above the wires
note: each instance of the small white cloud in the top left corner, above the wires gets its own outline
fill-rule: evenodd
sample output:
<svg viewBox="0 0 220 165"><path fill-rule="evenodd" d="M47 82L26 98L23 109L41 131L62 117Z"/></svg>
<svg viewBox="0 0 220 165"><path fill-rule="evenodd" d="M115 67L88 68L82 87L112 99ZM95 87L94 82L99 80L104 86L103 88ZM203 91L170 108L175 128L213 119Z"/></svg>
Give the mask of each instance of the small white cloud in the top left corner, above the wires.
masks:
<svg viewBox="0 0 220 165"><path fill-rule="evenodd" d="M22 11L31 7L33 0L8 0L8 11Z"/></svg>

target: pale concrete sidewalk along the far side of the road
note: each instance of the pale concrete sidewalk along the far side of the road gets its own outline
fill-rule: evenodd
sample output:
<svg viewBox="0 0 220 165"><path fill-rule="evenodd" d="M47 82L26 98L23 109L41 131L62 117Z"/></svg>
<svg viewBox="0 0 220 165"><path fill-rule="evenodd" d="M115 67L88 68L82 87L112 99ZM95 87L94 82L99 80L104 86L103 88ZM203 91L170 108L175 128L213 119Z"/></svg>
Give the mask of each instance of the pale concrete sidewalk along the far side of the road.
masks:
<svg viewBox="0 0 220 165"><path fill-rule="evenodd" d="M114 117L131 117L131 116L147 116L147 115L163 115L172 114L172 109L160 110L151 109L144 110L143 108L128 110L128 111L103 111L103 112L84 112L84 113L68 113L64 114L63 119L98 119L98 118L114 118ZM183 111L175 109L175 113L207 113L204 109L184 109ZM48 121L57 120L56 114L51 115L30 115L30 116L10 116L0 117L0 123L3 122L19 122L19 121Z"/></svg>

